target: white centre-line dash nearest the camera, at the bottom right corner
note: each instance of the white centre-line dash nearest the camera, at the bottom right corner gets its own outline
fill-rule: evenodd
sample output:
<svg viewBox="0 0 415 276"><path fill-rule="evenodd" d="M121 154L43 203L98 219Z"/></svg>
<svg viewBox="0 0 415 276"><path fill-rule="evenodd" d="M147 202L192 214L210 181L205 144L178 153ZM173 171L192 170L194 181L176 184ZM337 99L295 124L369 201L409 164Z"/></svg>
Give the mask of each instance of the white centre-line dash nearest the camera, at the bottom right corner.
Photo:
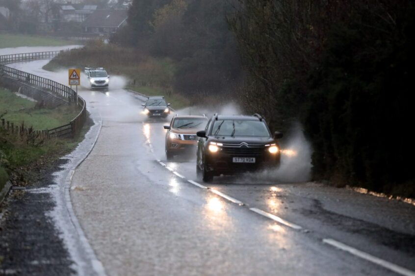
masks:
<svg viewBox="0 0 415 276"><path fill-rule="evenodd" d="M360 257L362 259L365 259L365 260L367 260L369 262L372 262L372 263L375 263L377 265L380 265L380 266L382 266L384 268L387 268L387 269L389 269L389 270L391 270L393 272L396 272L396 273L398 273L400 275L415 276L415 272L413 272L413 271L411 271L409 269L406 269L406 268L400 267L398 265L389 263L388 261L385 261L385 260L380 259L378 257L372 256L372 255L370 255L368 253L364 253L363 251L360 251L360 250L358 250L356 248L353 248L353 247L350 247L348 245L345 245L345 244L343 244L341 242L338 242L336 240L333 240L333 239L323 239L323 242L324 243L327 243L327 244L330 244L331 246L334 246L334 247L336 247L338 249L341 249L343 251L346 251L348 253L351 253L351 254L353 254L355 256L358 256L358 257Z"/></svg>

